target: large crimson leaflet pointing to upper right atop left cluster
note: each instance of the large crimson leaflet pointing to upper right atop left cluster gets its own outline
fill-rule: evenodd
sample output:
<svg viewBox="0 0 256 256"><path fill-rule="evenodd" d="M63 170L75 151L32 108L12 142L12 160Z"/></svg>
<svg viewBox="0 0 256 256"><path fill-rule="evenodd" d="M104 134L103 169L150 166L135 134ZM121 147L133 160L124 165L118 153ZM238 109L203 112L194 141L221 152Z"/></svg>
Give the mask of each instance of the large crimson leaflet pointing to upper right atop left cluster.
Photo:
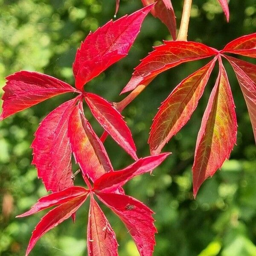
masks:
<svg viewBox="0 0 256 256"><path fill-rule="evenodd" d="M152 7L147 6L119 20L111 20L85 38L73 64L76 88L81 90L85 83L127 55Z"/></svg>

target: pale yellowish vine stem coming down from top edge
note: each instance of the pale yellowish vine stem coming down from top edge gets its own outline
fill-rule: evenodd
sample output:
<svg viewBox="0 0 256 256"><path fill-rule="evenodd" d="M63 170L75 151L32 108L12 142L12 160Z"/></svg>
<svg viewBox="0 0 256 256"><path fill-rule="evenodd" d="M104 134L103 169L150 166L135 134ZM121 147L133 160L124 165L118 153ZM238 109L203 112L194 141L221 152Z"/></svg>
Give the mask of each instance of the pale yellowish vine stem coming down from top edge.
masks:
<svg viewBox="0 0 256 256"><path fill-rule="evenodd" d="M183 12L180 23L180 31L177 36L177 41L187 41L191 5L192 0L184 0Z"/></svg>

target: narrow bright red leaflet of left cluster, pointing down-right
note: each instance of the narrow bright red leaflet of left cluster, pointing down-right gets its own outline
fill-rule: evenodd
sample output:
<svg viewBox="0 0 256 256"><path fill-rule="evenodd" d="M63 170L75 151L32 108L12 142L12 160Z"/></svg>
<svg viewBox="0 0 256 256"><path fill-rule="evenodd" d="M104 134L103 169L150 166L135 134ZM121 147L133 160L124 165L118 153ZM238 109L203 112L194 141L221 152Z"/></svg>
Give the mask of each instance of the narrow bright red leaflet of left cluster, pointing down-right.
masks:
<svg viewBox="0 0 256 256"><path fill-rule="evenodd" d="M131 131L123 120L122 115L113 107L113 105L102 97L87 93L85 101L89 106L93 116L102 125L105 131L131 155L135 160L136 147L131 135Z"/></svg>

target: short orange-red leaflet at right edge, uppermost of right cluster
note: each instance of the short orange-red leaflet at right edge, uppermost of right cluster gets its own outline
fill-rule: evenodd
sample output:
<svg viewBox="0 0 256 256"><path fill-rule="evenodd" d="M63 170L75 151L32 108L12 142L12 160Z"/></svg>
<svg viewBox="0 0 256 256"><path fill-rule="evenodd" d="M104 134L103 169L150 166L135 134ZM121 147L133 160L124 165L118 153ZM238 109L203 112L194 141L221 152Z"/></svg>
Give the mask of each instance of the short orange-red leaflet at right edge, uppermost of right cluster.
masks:
<svg viewBox="0 0 256 256"><path fill-rule="evenodd" d="M244 35L228 43L221 52L256 58L256 33Z"/></svg>

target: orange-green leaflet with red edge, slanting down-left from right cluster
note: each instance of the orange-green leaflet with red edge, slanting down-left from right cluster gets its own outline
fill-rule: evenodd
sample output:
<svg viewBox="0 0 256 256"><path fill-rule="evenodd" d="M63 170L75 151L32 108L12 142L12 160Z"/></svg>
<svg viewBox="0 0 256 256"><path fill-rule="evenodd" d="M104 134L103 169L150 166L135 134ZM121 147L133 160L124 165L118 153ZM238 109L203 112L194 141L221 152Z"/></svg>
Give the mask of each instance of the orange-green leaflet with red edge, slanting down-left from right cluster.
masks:
<svg viewBox="0 0 256 256"><path fill-rule="evenodd" d="M181 81L162 103L154 117L148 143L151 154L159 154L163 146L189 121L198 105L216 58Z"/></svg>

